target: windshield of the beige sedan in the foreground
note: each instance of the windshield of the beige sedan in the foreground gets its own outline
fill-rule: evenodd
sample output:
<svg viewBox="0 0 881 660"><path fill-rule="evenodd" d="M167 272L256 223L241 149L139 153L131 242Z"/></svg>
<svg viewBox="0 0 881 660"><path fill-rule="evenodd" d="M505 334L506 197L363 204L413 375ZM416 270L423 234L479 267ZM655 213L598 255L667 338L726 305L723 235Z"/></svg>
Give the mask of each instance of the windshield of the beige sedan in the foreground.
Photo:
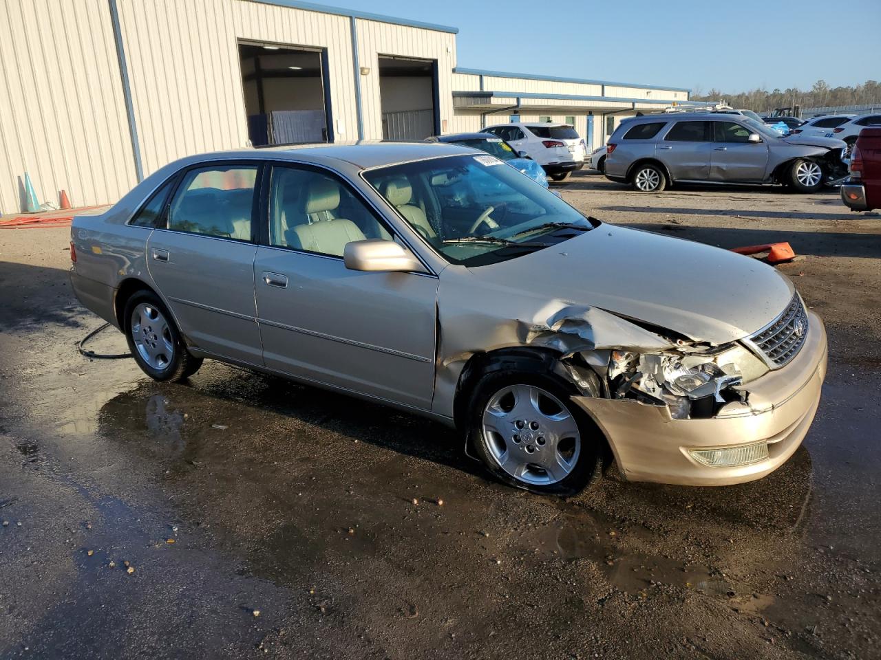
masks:
<svg viewBox="0 0 881 660"><path fill-rule="evenodd" d="M455 264L514 259L598 224L485 154L391 165L363 176L414 231Z"/></svg>

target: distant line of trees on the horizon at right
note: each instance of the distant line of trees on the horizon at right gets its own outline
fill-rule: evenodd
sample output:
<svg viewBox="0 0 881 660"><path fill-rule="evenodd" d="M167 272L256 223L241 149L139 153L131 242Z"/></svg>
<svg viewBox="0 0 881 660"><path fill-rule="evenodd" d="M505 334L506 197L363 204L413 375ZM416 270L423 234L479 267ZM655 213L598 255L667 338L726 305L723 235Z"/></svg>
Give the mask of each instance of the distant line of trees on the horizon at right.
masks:
<svg viewBox="0 0 881 660"><path fill-rule="evenodd" d="M704 93L697 87L692 90L691 98L699 101L722 99L729 106L755 110L758 113L769 113L776 107L862 106L881 103L881 83L867 80L853 87L830 87L825 80L818 80L806 92L790 87L785 90L775 88L771 92L755 89L737 94L726 94L715 88Z"/></svg>

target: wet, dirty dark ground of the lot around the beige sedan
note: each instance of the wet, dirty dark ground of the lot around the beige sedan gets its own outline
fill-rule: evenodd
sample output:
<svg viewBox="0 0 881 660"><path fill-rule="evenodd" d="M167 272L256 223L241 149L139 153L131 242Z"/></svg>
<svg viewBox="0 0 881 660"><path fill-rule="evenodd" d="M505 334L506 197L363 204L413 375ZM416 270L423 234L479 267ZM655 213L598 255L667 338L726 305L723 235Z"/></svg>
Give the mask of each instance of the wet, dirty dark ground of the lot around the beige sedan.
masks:
<svg viewBox="0 0 881 660"><path fill-rule="evenodd" d="M159 385L78 355L100 320L70 295L67 230L4 231L0 657L881 656L881 217L828 194L560 189L723 246L802 233L782 270L831 355L778 472L680 488L613 469L560 500L359 400L213 362Z"/></svg>

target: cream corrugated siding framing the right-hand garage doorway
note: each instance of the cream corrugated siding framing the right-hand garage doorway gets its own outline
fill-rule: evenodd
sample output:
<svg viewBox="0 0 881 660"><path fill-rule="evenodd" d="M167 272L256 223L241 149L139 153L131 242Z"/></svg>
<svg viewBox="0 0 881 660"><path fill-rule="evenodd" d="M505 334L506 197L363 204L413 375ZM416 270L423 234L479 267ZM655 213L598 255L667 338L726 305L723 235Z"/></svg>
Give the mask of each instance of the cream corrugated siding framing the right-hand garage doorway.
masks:
<svg viewBox="0 0 881 660"><path fill-rule="evenodd" d="M438 61L438 88L441 99L441 128L453 119L453 68L455 67L455 35L408 26L357 19L359 64L370 67L370 74L361 77L361 107L364 113L366 139L382 137L382 106L380 99L379 55L398 55ZM449 51L447 52L447 48Z"/></svg>

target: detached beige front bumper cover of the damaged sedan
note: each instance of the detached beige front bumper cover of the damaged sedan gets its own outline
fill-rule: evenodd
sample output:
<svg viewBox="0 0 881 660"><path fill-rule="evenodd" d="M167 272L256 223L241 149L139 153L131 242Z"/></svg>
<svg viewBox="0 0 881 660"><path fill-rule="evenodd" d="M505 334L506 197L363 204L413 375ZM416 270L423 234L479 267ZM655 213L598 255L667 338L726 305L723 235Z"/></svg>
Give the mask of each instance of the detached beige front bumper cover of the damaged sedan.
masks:
<svg viewBox="0 0 881 660"><path fill-rule="evenodd" d="M813 312L798 355L781 369L738 389L748 406L729 404L710 419L677 420L666 406L634 400L573 397L611 444L626 479L685 486L724 486L756 480L783 465L802 444L817 412L828 348L823 321ZM740 447L765 442L768 456L756 463L714 467L690 450Z"/></svg>

